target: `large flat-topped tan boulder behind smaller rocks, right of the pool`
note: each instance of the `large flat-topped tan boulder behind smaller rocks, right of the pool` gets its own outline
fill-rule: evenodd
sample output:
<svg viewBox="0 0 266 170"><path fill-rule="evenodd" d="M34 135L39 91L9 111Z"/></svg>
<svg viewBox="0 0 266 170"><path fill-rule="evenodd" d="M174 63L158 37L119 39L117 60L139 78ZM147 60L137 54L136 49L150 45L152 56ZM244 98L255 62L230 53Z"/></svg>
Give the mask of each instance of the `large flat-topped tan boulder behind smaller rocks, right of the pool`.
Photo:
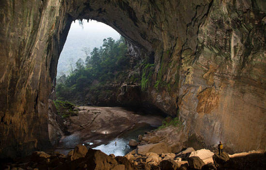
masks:
<svg viewBox="0 0 266 170"><path fill-rule="evenodd" d="M138 154L146 155L148 152L153 152L156 154L168 153L168 147L163 142L137 146Z"/></svg>

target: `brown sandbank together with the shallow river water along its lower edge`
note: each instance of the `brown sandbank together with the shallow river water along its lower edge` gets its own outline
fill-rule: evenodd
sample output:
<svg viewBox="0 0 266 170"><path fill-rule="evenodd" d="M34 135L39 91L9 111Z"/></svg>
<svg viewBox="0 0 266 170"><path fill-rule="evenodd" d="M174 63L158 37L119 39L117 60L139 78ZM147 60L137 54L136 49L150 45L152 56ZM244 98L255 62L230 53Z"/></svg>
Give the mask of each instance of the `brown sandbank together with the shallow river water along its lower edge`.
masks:
<svg viewBox="0 0 266 170"><path fill-rule="evenodd" d="M67 155L77 144L85 144L107 155L123 156L135 149L128 145L130 139L138 141L138 135L156 129L163 121L157 112L145 114L120 107L79 107L79 110L77 116L69 118L71 135L61 139L56 152Z"/></svg>

